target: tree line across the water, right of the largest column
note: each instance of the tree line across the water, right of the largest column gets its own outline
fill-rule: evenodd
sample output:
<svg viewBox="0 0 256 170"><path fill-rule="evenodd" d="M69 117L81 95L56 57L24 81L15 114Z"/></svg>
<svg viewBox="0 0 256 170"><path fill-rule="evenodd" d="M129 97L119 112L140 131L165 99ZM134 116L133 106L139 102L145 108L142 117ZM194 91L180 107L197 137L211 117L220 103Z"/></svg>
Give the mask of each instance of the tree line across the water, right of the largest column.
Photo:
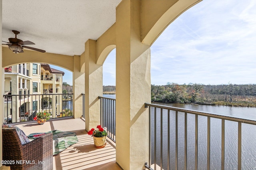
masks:
<svg viewBox="0 0 256 170"><path fill-rule="evenodd" d="M256 100L256 84L183 84L151 85L152 102L214 103Z"/></svg>

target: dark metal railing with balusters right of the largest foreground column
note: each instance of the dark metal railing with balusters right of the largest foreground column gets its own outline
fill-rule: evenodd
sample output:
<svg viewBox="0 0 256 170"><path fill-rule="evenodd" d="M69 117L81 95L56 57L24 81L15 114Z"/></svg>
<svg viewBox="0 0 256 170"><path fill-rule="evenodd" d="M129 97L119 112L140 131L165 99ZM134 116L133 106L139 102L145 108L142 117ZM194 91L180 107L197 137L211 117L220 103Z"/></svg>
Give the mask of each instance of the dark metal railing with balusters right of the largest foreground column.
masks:
<svg viewBox="0 0 256 170"><path fill-rule="evenodd" d="M180 114L184 113L184 132L181 131L181 133L184 133L184 168L182 169L202 169L201 166L201 161L198 161L198 156L200 153L200 147L198 147L198 137L200 136L199 133L201 133L201 131L198 130L198 125L201 122L201 119L198 118L198 115L202 116L202 117L207 117L207 170L210 170L210 140L213 136L211 136L211 118L216 118L216 119L221 119L222 120L222 125L221 125L221 169L225 168L225 121L233 121L233 122L238 122L238 129L237 129L237 133L238 133L238 159L237 159L237 169L241 170L242 169L242 123L243 124L251 124L251 125L256 125L256 121L254 120L248 120L248 119L241 119L241 118L236 118L236 117L232 117L232 116L227 116L227 115L219 115L219 114L214 114L214 113L208 113L208 112L202 112L202 111L194 111L194 110L189 110L189 109L182 109L182 108L178 108L178 107L170 107L170 106L162 106L162 105L157 105L157 104L145 104L145 107L149 107L150 111L149 111L149 146L148 146L148 152L149 152L149 156L148 156L148 162L145 162L145 167L149 170L156 170L156 169L181 169L178 167L178 164L180 165L180 161L178 158L178 153L179 153L179 148L180 146L178 146L178 144L180 143L179 139L180 137L178 136L178 134L180 133L178 131L178 128L180 126L183 126L182 124L178 124L178 118ZM160 109L160 110L158 110ZM167 121L168 121L168 135L167 135L167 143L168 143L168 147L167 147L167 154L163 155L163 146L164 143L163 141L166 140L166 138L162 138L164 137L163 135L163 128L164 127L164 123L163 120L165 119L165 117L163 117L163 113L164 113L164 109L166 109L168 111L168 117L167 117ZM171 113L170 111L175 111L175 131L171 131ZM152 113L151 113L152 111ZM154 113L153 113L154 111ZM151 114L154 117L154 120L151 119ZM160 114L160 117L158 116ZM188 118L188 115L195 115L194 121L193 122L191 119ZM159 119L160 118L160 119ZM200 117L201 118L201 117ZM200 120L200 121L199 121ZM190 128L188 127L188 122L192 121L194 123L194 134L192 133L192 135L194 135L194 149L195 149L195 153L192 155L194 159L194 165L192 166L192 162L191 160L188 161L187 156L191 154L189 154L189 138L188 135L190 134L189 132L191 130L189 130ZM161 127L159 127L159 125ZM154 126L154 128L153 128ZM160 128L160 132L157 131L157 128ZM201 129L200 129L201 130ZM159 138L157 133L160 133L161 137ZM152 136L153 135L153 136ZM171 156L170 151L171 151L171 140L173 138L171 138L171 136L174 135L174 139L175 139L175 143L173 143L173 145L175 145L175 156ZM191 136L190 136L191 138ZM216 139L218 140L218 139ZM154 143L154 146L152 146L152 143ZM171 145L171 146L170 146ZM249 147L249 146L248 146ZM213 148L214 149L214 148ZM164 157L166 156L166 157ZM162 162L162 160L166 160L167 159L167 164L165 162ZM191 159L191 158L190 158ZM175 162L174 164L172 164L172 162ZM179 162L178 162L179 161ZM148 164L149 163L149 164ZM164 164L165 163L165 164ZM190 163L190 164L189 164ZM200 163L200 164L199 164ZM152 165L154 164L154 166ZM158 165L157 165L158 164ZM152 167L151 167L152 165Z"/></svg>

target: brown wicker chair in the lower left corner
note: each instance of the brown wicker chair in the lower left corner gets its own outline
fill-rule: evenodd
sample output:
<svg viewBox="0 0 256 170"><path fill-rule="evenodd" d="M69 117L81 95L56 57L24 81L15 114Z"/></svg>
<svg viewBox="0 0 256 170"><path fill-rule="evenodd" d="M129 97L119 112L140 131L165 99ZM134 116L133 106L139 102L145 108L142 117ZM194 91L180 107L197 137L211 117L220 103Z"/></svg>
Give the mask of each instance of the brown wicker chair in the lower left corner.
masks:
<svg viewBox="0 0 256 170"><path fill-rule="evenodd" d="M52 170L52 133L21 145L16 129L2 129L3 160L14 160L11 170ZM16 162L27 161L27 162ZM39 164L38 164L39 162Z"/></svg>

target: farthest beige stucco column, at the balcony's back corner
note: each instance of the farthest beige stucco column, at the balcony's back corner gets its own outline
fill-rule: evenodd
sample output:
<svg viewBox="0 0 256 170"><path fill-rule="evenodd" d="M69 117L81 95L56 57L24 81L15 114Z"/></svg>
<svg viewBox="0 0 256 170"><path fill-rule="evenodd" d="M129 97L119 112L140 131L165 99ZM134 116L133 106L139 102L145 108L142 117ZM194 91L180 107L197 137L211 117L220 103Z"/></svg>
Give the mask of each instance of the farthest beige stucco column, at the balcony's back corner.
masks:
<svg viewBox="0 0 256 170"><path fill-rule="evenodd" d="M81 72L80 68L80 56L74 56L74 71L73 71L73 117L80 118L83 114L82 105L83 98L82 93L84 94L84 69Z"/></svg>

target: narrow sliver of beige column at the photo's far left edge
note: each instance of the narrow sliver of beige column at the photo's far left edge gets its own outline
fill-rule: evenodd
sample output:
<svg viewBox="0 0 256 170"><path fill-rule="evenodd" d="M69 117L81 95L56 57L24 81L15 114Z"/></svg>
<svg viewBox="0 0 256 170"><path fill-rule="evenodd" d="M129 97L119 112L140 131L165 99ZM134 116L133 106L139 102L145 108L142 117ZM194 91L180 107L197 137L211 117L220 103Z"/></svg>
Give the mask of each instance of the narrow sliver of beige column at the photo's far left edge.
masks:
<svg viewBox="0 0 256 170"><path fill-rule="evenodd" d="M0 38L2 39L2 0L0 0ZM0 48L0 96L4 95L4 68L2 68L2 48ZM0 103L2 104L2 106L4 106L4 100L3 98L0 98ZM1 107L0 107L1 108ZM0 110L0 123L3 123L3 114L4 114L4 107L1 108ZM0 126L0 139L2 138L2 126ZM3 146L3 142L2 140L0 140L0 160L3 160L2 156L2 146ZM2 166L2 164L0 163L0 166Z"/></svg>

